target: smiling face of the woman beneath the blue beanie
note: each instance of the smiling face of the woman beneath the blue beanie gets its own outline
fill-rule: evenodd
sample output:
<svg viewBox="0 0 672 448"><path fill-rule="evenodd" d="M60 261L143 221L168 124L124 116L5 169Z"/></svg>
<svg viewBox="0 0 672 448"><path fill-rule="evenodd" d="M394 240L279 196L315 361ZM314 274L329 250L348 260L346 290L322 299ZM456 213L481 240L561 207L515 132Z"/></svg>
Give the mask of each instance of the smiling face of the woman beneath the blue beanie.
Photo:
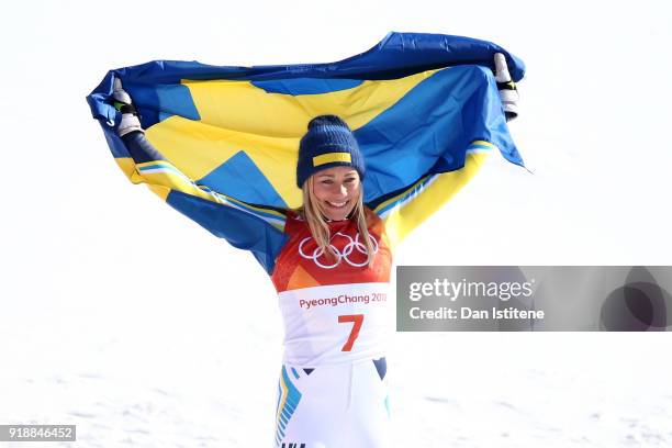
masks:
<svg viewBox="0 0 672 448"><path fill-rule="evenodd" d="M333 167L315 172L313 194L326 217L343 221L355 209L361 184L359 173L352 167Z"/></svg>

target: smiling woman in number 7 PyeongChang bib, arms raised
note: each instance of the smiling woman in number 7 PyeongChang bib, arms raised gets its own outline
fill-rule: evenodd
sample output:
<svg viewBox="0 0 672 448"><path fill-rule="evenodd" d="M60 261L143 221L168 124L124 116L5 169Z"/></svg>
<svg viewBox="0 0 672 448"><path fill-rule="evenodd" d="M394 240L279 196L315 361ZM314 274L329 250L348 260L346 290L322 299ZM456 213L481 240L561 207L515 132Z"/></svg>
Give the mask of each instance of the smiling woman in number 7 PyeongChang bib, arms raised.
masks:
<svg viewBox="0 0 672 448"><path fill-rule="evenodd" d="M506 68L501 59L497 78L501 65ZM391 249L473 172L433 175L369 208L363 203L365 160L352 132L338 116L321 115L310 121L299 147L296 186L303 205L262 208L193 183L145 138L119 79L113 98L122 112L116 131L137 176L172 194L178 210L188 200L202 200L198 206L203 209L219 204L190 217L251 250L271 277L285 333L276 446L389 446L384 341L393 322L387 300ZM517 112L516 98L502 99L507 113ZM480 160L468 155L475 168Z"/></svg>

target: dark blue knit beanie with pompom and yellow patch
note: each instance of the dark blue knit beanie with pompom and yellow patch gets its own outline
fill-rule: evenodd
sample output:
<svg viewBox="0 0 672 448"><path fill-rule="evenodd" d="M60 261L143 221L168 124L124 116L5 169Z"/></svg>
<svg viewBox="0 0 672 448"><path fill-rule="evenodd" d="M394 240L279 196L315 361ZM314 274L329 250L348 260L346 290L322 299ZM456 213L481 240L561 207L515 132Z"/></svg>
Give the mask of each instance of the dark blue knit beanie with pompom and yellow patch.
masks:
<svg viewBox="0 0 672 448"><path fill-rule="evenodd" d="M352 167L363 180L365 161L352 131L336 115L320 115L310 121L299 144L296 186L323 169Z"/></svg>

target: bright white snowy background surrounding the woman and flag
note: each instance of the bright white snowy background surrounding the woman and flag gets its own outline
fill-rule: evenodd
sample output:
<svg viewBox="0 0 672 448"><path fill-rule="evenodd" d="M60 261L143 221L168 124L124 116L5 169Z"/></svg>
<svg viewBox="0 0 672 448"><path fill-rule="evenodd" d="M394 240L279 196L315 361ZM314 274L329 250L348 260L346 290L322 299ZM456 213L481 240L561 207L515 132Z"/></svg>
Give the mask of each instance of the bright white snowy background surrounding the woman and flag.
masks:
<svg viewBox="0 0 672 448"><path fill-rule="evenodd" d="M116 168L85 101L109 69L327 63L389 31L496 42L528 67L511 130L535 173L492 157L396 262L672 265L671 19L663 0L5 5L0 423L76 424L77 447L270 445L275 290ZM667 333L393 343L400 446L672 445Z"/></svg>

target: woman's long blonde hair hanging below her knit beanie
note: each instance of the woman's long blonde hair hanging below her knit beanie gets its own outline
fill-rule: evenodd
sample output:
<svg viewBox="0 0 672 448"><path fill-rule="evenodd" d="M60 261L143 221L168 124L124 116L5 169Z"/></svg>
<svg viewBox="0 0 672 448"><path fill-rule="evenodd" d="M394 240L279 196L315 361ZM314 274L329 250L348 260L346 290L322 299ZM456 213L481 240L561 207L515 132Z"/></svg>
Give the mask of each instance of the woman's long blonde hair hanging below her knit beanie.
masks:
<svg viewBox="0 0 672 448"><path fill-rule="evenodd" d="M307 223L317 247L320 247L323 253L327 255L327 257L331 257L332 260L334 260L338 257L338 255L329 246L329 239L332 236L329 233L329 226L326 222L325 213L320 206L320 202L313 192L313 176L311 176L305 180L305 183L303 183L303 205L301 205L296 212ZM361 188L361 184L351 216L357 222L360 243L366 247L367 262L365 266L370 267L371 262L373 261L373 243L371 243L371 236L367 226L367 215L363 205L363 189Z"/></svg>

